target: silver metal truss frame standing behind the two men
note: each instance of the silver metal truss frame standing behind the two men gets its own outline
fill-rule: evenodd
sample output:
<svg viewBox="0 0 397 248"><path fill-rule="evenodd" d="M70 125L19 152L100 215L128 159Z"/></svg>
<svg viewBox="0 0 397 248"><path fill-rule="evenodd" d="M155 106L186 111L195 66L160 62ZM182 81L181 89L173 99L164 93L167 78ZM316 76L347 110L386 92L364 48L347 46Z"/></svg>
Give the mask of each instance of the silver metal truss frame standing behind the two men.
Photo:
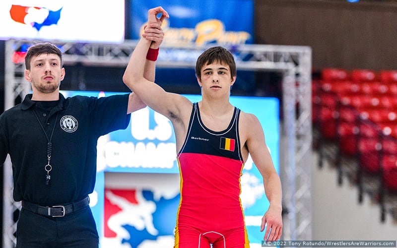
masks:
<svg viewBox="0 0 397 248"><path fill-rule="evenodd" d="M123 44L55 43L64 53L64 63L90 66L127 66L137 41ZM24 79L24 64L11 61L15 51L32 41L9 40L5 46L5 110L31 90ZM226 46L225 46L226 47ZM199 54L208 47L163 44L157 67L194 68ZM282 124L280 127L280 177L283 187L282 240L312 238L312 50L301 46L241 45L228 48L238 70L277 71L282 74ZM183 54L184 56L178 56ZM12 200L9 159L4 165L3 248L15 246L13 216L20 209Z"/></svg>

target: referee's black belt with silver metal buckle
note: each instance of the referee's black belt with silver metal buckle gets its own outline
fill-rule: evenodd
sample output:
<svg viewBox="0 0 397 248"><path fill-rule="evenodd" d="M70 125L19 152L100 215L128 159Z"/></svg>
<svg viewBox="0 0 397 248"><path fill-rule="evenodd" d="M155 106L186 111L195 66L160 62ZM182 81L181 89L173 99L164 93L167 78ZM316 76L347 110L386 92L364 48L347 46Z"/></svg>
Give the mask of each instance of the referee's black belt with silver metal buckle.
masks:
<svg viewBox="0 0 397 248"><path fill-rule="evenodd" d="M54 205L47 207L40 206L23 200L22 207L36 214L41 214L51 217L64 217L66 214L70 214L72 212L75 212L77 210L80 210L88 206L89 203L90 203L90 198L87 196L82 200L68 203L66 205Z"/></svg>

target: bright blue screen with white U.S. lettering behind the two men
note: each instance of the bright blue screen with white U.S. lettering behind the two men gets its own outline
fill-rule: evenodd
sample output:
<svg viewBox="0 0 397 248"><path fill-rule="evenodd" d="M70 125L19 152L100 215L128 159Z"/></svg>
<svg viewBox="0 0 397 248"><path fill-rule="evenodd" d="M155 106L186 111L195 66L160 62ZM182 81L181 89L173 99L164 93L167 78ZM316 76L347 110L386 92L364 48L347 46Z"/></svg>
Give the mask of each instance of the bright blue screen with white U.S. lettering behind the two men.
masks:
<svg viewBox="0 0 397 248"><path fill-rule="evenodd" d="M115 92L61 91L65 97L104 97ZM200 95L184 95L192 102ZM231 96L232 105L254 114L279 173L279 102L276 98ZM179 168L171 122L146 107L131 114L124 130L98 139L97 179L90 206L101 247L172 247L180 199ZM262 217L269 206L263 179L249 156L241 177L241 203L250 244L261 244ZM167 218L167 221L165 221ZM144 221L142 221L144 220ZM145 244L143 246L143 244Z"/></svg>

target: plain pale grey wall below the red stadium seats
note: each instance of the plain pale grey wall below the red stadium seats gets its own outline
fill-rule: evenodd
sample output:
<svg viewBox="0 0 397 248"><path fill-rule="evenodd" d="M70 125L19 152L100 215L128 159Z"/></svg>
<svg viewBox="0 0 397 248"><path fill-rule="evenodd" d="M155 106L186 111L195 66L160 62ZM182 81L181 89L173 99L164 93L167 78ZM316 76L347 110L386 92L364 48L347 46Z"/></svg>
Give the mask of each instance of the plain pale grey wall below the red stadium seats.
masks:
<svg viewBox="0 0 397 248"><path fill-rule="evenodd" d="M380 208L365 195L358 203L357 186L344 180L337 184L336 170L324 164L317 166L314 152L312 171L313 240L393 240L397 223L390 214L380 221Z"/></svg>

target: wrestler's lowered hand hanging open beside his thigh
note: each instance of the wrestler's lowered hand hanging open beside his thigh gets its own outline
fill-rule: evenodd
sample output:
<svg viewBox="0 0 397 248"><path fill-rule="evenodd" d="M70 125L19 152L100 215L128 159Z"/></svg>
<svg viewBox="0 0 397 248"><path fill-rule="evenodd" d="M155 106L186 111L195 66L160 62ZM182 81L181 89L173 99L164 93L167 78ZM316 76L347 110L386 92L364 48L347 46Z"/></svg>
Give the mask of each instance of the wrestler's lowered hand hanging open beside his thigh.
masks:
<svg viewBox="0 0 397 248"><path fill-rule="evenodd" d="M264 241L277 241L282 233L281 206L270 206L262 217L261 232L265 230Z"/></svg>

